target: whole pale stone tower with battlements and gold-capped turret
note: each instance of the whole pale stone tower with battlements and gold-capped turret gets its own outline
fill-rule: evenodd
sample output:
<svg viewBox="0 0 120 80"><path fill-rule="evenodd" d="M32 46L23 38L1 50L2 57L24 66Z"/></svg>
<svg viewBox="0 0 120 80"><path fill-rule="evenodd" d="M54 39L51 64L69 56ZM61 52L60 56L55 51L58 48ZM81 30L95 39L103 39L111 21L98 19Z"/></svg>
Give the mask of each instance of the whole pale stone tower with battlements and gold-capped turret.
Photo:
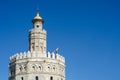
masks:
<svg viewBox="0 0 120 80"><path fill-rule="evenodd" d="M46 30L37 12L29 31L29 51L10 57L9 80L65 80L65 59L46 52Z"/></svg>

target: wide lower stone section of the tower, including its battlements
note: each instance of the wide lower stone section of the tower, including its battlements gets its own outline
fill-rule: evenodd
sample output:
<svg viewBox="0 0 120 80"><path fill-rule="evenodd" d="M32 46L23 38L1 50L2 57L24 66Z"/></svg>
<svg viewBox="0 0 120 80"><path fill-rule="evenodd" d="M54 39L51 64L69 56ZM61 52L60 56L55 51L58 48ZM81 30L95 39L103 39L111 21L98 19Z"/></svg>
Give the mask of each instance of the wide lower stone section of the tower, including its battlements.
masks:
<svg viewBox="0 0 120 80"><path fill-rule="evenodd" d="M24 52L10 58L9 80L65 80L64 57L34 53Z"/></svg>

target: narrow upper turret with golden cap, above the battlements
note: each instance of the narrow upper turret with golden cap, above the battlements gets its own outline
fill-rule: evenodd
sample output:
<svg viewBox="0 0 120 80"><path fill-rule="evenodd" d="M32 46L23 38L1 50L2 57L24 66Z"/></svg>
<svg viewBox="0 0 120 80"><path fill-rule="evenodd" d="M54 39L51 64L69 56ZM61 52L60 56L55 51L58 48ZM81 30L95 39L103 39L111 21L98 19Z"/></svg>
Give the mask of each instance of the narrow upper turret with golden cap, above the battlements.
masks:
<svg viewBox="0 0 120 80"><path fill-rule="evenodd" d="M33 29L29 31L29 51L46 53L46 31L43 29L43 19L39 12L33 18Z"/></svg>

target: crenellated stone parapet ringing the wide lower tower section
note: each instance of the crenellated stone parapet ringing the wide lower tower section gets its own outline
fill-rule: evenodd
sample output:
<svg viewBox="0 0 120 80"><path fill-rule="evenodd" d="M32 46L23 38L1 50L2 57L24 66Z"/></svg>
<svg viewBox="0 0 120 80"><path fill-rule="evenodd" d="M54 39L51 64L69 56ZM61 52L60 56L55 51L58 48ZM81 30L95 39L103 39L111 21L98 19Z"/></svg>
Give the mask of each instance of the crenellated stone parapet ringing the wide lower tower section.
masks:
<svg viewBox="0 0 120 80"><path fill-rule="evenodd" d="M54 60L59 60L63 63L65 63L65 58L63 56L61 56L60 54L55 54L54 52L50 53L48 52L47 54L45 53L40 53L40 52L20 52L11 56L10 57L10 62L14 62L16 60L22 60L22 59L30 59L30 58L49 58L49 59L54 59Z"/></svg>

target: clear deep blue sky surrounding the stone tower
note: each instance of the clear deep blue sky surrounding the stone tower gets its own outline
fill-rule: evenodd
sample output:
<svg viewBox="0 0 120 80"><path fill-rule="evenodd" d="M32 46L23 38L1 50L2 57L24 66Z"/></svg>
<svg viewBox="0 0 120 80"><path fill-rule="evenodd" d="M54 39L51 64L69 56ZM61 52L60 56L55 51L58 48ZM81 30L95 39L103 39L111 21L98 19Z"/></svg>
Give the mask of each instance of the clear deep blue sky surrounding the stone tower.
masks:
<svg viewBox="0 0 120 80"><path fill-rule="evenodd" d="M9 57L28 50L36 0L0 0L0 80ZM47 49L66 58L66 80L120 80L119 0L39 0Z"/></svg>

